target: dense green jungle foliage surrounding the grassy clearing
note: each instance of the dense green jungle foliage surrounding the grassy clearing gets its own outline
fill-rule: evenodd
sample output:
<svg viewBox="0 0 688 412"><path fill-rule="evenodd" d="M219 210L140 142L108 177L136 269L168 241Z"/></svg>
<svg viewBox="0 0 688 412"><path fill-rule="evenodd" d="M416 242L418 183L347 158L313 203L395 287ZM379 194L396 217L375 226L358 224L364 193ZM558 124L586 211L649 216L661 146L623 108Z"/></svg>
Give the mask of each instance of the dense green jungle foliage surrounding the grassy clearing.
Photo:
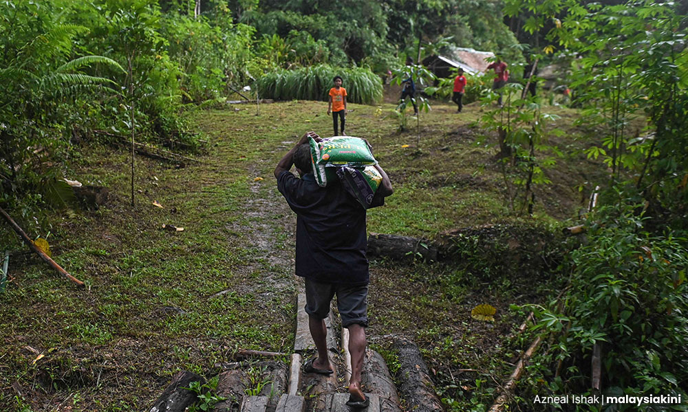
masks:
<svg viewBox="0 0 688 412"><path fill-rule="evenodd" d="M584 155L602 160L607 178L580 186L601 186L601 207L585 217L588 243L561 266L564 304L536 310L535 332L552 336L551 345L520 395L583 393L585 365L601 356L608 394L686 396L685 2L208 0L200 14L194 6L0 3L0 205L31 221L60 192L79 142L96 132L134 129L138 140L175 137L193 148L186 113L246 85L260 97L325 100L339 75L351 102L374 103L380 75L444 47L487 49L510 63L526 50L540 67L560 68L583 115ZM490 85L469 78L469 100L482 96L481 126L499 136L511 211L530 214L562 152L548 144L556 119L516 82L494 106ZM450 87L440 80L438 95ZM405 128L404 111L396 113Z"/></svg>

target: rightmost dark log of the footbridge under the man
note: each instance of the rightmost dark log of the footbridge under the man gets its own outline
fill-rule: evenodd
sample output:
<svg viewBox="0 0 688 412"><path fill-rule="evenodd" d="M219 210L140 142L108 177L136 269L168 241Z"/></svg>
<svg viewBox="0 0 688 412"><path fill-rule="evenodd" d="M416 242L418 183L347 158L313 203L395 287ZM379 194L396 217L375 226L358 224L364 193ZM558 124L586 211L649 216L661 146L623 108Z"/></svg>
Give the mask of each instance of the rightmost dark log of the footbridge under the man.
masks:
<svg viewBox="0 0 688 412"><path fill-rule="evenodd" d="M442 412L442 402L438 399L430 379L427 365L420 356L416 343L408 339L397 339L394 348L399 354L401 367L397 376L401 382L399 389L406 399L409 410L414 412Z"/></svg>

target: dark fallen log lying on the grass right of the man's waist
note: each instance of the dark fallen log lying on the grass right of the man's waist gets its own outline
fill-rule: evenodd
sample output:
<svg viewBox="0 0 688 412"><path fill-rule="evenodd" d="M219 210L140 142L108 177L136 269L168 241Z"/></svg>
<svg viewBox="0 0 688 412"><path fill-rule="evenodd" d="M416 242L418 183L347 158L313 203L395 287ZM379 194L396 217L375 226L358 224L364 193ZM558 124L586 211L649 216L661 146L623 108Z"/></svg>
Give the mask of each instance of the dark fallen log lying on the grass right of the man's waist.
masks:
<svg viewBox="0 0 688 412"><path fill-rule="evenodd" d="M438 252L437 247L430 240L370 233L368 236L368 256L388 257L395 260L422 258L436 262Z"/></svg>

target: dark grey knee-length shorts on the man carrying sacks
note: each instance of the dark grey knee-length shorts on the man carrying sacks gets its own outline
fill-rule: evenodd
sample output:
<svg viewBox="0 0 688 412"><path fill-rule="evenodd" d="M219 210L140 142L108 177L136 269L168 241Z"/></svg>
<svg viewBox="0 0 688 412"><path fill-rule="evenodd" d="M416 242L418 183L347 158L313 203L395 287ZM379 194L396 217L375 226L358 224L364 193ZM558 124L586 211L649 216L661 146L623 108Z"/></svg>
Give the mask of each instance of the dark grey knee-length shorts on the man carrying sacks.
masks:
<svg viewBox="0 0 688 412"><path fill-rule="evenodd" d="M305 278L305 312L316 319L325 319L330 313L330 302L337 295L337 309L342 318L342 327L354 323L368 326L368 285L348 286L315 282Z"/></svg>

